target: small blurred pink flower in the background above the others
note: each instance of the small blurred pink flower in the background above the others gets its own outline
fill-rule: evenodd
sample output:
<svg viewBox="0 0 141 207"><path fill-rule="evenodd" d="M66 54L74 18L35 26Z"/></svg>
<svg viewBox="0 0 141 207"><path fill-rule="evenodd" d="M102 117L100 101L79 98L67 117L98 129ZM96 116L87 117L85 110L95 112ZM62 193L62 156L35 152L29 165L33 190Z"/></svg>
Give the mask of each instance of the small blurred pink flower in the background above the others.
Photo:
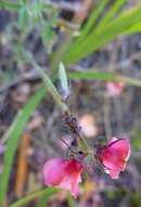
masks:
<svg viewBox="0 0 141 207"><path fill-rule="evenodd" d="M123 92L125 84L124 83L106 83L106 90L110 96L119 96Z"/></svg>

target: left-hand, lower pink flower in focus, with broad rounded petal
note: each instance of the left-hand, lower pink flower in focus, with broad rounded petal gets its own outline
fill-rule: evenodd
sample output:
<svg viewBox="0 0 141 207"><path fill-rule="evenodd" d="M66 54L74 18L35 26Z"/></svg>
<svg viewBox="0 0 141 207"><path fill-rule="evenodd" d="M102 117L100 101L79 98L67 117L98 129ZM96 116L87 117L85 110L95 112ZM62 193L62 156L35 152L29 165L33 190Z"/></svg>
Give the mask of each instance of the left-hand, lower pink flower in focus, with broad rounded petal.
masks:
<svg viewBox="0 0 141 207"><path fill-rule="evenodd" d="M77 197L82 169L81 163L75 159L52 158L43 166L44 184L68 190Z"/></svg>

